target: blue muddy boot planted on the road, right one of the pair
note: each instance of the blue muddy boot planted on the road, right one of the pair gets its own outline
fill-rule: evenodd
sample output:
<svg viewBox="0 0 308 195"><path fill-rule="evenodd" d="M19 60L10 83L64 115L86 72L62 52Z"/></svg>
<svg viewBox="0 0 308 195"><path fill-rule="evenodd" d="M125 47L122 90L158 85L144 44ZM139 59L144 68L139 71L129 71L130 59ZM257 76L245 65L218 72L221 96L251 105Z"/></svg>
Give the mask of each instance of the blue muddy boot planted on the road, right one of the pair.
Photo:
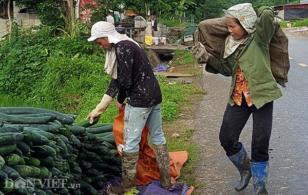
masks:
<svg viewBox="0 0 308 195"><path fill-rule="evenodd" d="M255 195L268 195L266 190L267 174L268 174L268 161L262 163L252 163L252 172L254 180Z"/></svg>

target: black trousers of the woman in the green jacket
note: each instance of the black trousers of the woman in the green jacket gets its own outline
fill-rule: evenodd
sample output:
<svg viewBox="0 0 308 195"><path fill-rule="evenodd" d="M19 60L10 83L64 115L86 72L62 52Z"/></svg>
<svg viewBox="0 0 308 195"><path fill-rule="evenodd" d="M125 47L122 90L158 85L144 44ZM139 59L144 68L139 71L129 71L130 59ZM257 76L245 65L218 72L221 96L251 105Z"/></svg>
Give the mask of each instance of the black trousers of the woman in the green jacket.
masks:
<svg viewBox="0 0 308 195"><path fill-rule="evenodd" d="M255 105L248 107L242 94L242 104L227 104L219 133L221 146L227 156L232 156L241 150L238 144L240 134L253 113L253 138L251 162L260 163L268 161L268 145L272 132L273 101L257 109Z"/></svg>

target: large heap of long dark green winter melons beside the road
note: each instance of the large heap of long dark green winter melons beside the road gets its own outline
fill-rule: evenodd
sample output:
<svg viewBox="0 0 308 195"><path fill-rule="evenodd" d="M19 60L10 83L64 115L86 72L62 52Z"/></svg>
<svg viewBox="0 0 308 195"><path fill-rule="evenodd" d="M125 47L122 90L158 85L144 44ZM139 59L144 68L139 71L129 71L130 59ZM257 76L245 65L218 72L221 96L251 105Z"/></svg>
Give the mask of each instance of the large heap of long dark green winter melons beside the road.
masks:
<svg viewBox="0 0 308 195"><path fill-rule="evenodd" d="M121 175L113 124L75 118L33 107L0 108L0 195L91 195Z"/></svg>

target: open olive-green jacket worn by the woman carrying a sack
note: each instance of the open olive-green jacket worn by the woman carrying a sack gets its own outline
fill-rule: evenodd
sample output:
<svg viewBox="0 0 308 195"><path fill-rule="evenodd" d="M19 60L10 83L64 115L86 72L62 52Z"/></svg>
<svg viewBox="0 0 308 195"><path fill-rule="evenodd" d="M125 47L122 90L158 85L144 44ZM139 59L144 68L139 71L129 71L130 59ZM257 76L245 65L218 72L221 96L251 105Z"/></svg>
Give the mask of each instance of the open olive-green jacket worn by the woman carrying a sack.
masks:
<svg viewBox="0 0 308 195"><path fill-rule="evenodd" d="M205 66L205 70L209 73L232 76L228 100L228 103L232 106L234 105L232 92L236 82L238 65L246 78L249 95L257 109L282 96L271 72L269 60L269 42L275 31L273 21L274 13L272 9L260 7L255 25L256 30L249 34L248 40L226 59L223 58L223 46L220 59L210 56Z"/></svg>

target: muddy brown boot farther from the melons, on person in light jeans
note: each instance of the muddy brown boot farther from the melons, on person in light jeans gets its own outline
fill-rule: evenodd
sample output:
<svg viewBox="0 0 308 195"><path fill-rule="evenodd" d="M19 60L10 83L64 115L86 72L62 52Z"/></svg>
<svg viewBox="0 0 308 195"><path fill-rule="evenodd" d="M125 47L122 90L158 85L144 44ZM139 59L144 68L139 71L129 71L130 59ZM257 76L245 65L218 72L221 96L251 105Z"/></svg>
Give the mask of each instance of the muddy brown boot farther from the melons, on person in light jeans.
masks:
<svg viewBox="0 0 308 195"><path fill-rule="evenodd" d="M167 144L153 145L162 188L168 190L173 185L170 175L170 157Z"/></svg>

